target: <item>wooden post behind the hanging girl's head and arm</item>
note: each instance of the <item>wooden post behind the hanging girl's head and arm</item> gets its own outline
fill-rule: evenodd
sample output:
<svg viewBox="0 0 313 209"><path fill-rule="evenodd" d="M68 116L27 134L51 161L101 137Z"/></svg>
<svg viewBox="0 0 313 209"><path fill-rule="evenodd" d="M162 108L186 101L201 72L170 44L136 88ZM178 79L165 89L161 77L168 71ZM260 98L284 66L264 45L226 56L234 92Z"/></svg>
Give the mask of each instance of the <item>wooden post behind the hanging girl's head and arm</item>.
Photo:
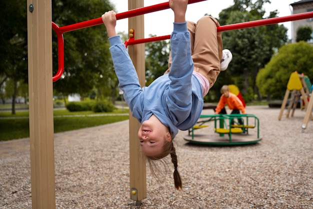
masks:
<svg viewBox="0 0 313 209"><path fill-rule="evenodd" d="M128 0L128 10L143 7L143 0ZM144 38L143 15L128 18L128 28L134 29L134 39ZM137 70L141 86L145 85L144 44L128 46L128 53ZM140 123L129 115L129 172L130 172L130 198L139 205L146 197L145 157L140 149L137 136Z"/></svg>

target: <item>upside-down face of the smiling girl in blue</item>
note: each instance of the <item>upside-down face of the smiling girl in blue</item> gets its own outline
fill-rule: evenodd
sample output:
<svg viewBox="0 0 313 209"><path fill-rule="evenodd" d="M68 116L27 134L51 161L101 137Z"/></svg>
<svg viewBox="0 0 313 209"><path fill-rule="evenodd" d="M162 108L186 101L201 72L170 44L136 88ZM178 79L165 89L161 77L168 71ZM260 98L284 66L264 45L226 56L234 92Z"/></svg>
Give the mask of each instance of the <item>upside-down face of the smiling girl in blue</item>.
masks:
<svg viewBox="0 0 313 209"><path fill-rule="evenodd" d="M151 157L160 155L165 141L171 140L168 127L163 125L154 114L142 122L138 130L138 138L143 153Z"/></svg>

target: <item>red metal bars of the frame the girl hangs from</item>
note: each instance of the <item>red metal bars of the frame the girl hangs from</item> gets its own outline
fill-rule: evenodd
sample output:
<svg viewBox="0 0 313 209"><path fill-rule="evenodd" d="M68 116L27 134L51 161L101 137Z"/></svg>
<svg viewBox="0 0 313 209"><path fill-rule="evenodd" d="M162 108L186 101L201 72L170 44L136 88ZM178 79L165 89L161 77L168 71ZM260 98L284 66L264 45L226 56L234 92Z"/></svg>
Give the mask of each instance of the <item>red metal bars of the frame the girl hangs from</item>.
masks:
<svg viewBox="0 0 313 209"><path fill-rule="evenodd" d="M189 0L188 4L190 3L196 3L204 0ZM164 10L168 9L169 5L168 2L159 3L151 6L145 6L141 8L131 9L125 12L117 13L116 19L123 19L128 17L133 17L137 15L142 15L154 11ZM283 17L273 17L268 19L260 19L255 21L249 21L249 22L241 22L241 23L235 23L235 24L229 24L229 25L222 25L217 27L217 31L226 31L226 30L234 30L234 29L242 29L247 27L255 27L255 26L261 26L261 25L267 25L267 24L275 24L279 22L286 22L286 21L294 21L299 19L305 19L305 18L311 18L313 17L313 11L311 12L304 12L300 14L293 14L289 16L283 16ZM102 18L98 17L95 19L90 19L87 21L82 21L66 26L57 26L54 22L52 22L52 28L56 32L57 35L57 57L58 57L58 69L56 74L52 77L52 81L55 82L58 80L63 71L64 71L64 38L63 33L76 30L76 29L82 29L85 27L95 26L98 24L102 24ZM133 45L138 43L146 43L146 42L152 42L152 41L159 41L159 40L165 40L169 39L170 35L163 35L163 36L157 36L157 37L149 37L149 38L142 38L142 39L134 39L129 38L127 41L125 41L125 47L127 45Z"/></svg>

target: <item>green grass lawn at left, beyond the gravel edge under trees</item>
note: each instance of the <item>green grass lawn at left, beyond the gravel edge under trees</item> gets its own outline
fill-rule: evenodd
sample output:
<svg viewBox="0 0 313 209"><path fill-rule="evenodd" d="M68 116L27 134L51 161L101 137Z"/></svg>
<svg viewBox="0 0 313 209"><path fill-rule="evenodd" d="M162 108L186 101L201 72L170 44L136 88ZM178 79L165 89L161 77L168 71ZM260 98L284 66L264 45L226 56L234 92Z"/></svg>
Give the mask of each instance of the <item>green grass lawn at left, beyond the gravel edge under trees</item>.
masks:
<svg viewBox="0 0 313 209"><path fill-rule="evenodd" d="M108 115L112 113L117 115ZM28 115L28 111L17 111L15 115L12 115L11 112L0 112L0 141L29 137ZM128 110L122 111L121 109L107 113L94 113L93 111L69 112L65 109L54 110L53 115L55 133L118 122L129 118Z"/></svg>

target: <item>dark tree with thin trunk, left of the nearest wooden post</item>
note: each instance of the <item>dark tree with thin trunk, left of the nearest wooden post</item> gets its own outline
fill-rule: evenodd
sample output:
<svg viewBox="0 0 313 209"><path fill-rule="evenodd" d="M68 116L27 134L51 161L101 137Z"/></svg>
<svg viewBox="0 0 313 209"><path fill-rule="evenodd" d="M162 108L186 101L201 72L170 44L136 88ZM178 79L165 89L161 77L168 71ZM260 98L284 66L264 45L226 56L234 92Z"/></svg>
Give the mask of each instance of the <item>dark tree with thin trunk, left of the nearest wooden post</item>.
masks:
<svg viewBox="0 0 313 209"><path fill-rule="evenodd" d="M1 86L13 83L12 114L15 114L17 83L27 80L27 13L26 0L3 1L0 7L0 75ZM2 82L3 81L3 82ZM0 86L0 87L1 87Z"/></svg>

